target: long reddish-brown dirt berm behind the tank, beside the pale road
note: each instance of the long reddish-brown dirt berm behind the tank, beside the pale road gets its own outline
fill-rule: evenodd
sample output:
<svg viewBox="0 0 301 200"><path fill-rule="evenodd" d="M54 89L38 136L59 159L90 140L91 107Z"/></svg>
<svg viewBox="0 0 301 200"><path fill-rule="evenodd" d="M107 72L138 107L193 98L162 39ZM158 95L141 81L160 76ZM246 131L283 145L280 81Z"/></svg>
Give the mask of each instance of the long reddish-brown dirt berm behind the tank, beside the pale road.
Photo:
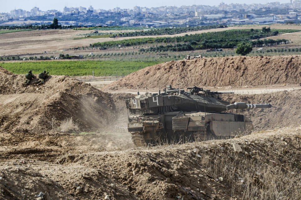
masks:
<svg viewBox="0 0 301 200"><path fill-rule="evenodd" d="M166 84L191 86L261 86L271 84L300 84L301 56L235 56L201 58L160 63L131 73L104 88L124 90L161 88Z"/></svg>

